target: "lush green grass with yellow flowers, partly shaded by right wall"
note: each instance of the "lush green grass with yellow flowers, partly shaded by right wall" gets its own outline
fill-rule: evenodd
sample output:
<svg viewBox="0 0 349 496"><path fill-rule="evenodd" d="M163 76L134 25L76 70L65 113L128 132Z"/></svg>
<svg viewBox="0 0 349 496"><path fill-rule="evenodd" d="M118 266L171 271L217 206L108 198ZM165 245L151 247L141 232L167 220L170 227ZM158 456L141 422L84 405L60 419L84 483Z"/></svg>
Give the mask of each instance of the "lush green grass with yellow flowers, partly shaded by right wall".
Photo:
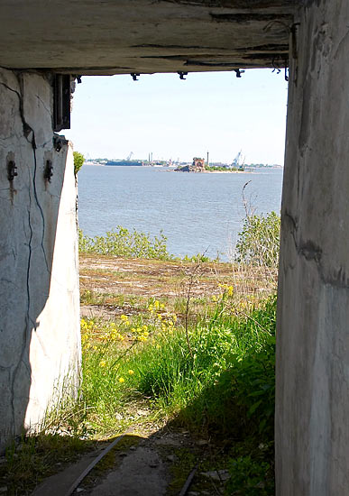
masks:
<svg viewBox="0 0 349 496"><path fill-rule="evenodd" d="M225 288L188 326L188 337L160 302L118 322L124 339L87 321L94 329L81 390L88 427L99 436L112 431L115 414L143 400L154 416L234 444L229 467L244 472L247 485L239 492L230 482L228 493L272 494L275 307L274 297L257 307L235 302Z"/></svg>

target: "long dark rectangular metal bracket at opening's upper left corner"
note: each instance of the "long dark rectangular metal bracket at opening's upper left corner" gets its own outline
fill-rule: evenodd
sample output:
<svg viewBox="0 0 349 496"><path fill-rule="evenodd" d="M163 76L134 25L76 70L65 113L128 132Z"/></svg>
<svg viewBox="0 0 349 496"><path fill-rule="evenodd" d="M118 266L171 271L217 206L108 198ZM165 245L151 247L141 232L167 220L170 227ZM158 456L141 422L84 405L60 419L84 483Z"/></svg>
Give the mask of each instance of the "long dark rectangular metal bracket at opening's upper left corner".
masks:
<svg viewBox="0 0 349 496"><path fill-rule="evenodd" d="M53 131L70 129L70 76L55 74L53 80Z"/></svg>

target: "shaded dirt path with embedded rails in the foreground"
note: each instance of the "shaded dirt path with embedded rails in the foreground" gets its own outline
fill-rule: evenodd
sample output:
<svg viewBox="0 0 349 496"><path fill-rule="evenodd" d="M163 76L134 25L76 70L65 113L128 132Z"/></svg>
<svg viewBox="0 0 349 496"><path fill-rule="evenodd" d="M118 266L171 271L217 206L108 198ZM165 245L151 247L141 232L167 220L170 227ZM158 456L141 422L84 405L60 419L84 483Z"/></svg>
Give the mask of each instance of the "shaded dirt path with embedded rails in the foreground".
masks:
<svg viewBox="0 0 349 496"><path fill-rule="evenodd" d="M83 456L78 463L51 476L32 496L66 496L79 474L100 451ZM188 496L223 495L229 475L222 458L212 456L216 451L216 446L210 445L208 440L195 440L183 430L164 428L148 435L125 436L71 494L175 496L182 490L188 475L197 469Z"/></svg>

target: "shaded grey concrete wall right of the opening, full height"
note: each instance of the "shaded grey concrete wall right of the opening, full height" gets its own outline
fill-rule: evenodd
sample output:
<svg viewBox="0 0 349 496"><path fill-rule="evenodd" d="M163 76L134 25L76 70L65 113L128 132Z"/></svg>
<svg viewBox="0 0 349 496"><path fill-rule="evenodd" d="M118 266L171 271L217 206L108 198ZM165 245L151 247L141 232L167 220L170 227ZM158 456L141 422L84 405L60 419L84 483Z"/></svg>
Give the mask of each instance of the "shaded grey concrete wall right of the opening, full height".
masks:
<svg viewBox="0 0 349 496"><path fill-rule="evenodd" d="M349 3L293 37L277 345L278 496L349 491Z"/></svg>

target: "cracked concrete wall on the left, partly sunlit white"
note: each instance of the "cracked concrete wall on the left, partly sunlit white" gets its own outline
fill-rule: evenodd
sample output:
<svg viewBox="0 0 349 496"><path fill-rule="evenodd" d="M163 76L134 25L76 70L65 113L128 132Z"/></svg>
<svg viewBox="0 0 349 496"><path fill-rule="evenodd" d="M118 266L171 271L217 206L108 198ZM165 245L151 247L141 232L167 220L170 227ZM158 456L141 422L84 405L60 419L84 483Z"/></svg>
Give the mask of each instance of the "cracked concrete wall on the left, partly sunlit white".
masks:
<svg viewBox="0 0 349 496"><path fill-rule="evenodd" d="M0 449L41 421L62 381L78 384L76 187L51 102L48 79L0 69Z"/></svg>

